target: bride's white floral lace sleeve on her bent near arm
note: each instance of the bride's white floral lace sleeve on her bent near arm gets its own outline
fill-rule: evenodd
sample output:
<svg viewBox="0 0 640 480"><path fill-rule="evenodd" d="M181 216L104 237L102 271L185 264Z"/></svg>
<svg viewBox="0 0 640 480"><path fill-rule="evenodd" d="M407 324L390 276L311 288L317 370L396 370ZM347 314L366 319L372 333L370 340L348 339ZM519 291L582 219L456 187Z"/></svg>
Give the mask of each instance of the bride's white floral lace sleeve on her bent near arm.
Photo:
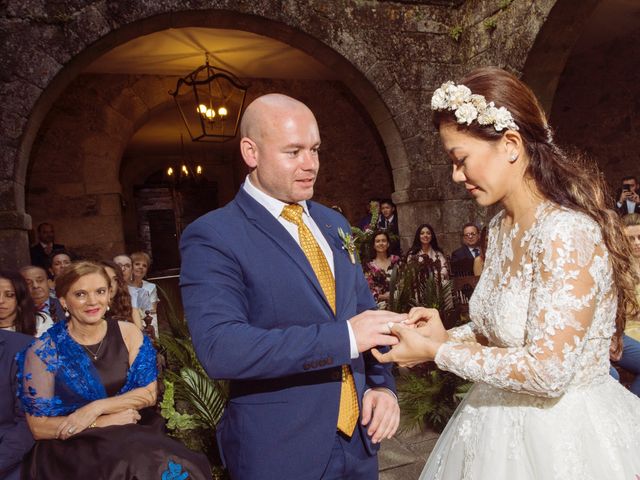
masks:
<svg viewBox="0 0 640 480"><path fill-rule="evenodd" d="M454 339L437 352L440 368L532 395L557 397L565 391L594 316L596 292L612 281L599 228L577 218L549 222L542 229L545 244L534 253L524 345L483 347Z"/></svg>

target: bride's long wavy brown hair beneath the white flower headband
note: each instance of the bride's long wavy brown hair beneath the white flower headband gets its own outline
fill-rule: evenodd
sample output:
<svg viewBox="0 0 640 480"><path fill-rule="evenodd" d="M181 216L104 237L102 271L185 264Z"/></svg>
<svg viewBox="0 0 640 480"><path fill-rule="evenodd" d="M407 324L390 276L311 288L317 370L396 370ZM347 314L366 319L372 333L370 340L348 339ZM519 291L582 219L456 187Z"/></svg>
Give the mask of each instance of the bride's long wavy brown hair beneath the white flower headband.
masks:
<svg viewBox="0 0 640 480"><path fill-rule="evenodd" d="M483 95L496 107L505 107L518 126L528 157L525 175L535 183L548 200L582 212L598 223L613 267L617 287L618 310L616 336L624 331L627 315L637 315L635 297L637 278L629 263L631 249L624 238L620 217L610 208L607 184L594 162L583 155L567 155L553 141L553 134L544 110L533 92L514 75L496 67L479 68L470 72L458 84L466 85L472 93ZM486 141L497 141L506 131L497 132L493 125L459 124L449 110L436 111L433 123L437 130L443 124L455 125L459 131Z"/></svg>

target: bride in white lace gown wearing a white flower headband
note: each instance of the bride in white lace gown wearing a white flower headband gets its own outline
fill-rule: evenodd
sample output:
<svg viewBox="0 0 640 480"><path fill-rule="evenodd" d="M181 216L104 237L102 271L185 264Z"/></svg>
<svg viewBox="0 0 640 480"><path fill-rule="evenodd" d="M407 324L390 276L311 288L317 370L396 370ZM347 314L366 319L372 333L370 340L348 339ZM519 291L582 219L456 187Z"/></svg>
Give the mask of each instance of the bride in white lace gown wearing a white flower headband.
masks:
<svg viewBox="0 0 640 480"><path fill-rule="evenodd" d="M471 322L446 331L414 308L380 361L475 382L421 479L620 479L640 474L640 400L609 375L612 336L635 315L636 279L602 177L553 142L513 75L483 68L431 101L453 180L500 202Z"/></svg>

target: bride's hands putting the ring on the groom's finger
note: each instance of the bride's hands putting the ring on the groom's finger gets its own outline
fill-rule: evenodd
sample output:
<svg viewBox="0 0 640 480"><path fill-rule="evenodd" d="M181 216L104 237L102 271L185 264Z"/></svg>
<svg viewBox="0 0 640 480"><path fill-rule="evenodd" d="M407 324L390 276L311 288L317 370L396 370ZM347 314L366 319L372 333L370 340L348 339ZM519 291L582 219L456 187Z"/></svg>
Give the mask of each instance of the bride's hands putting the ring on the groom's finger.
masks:
<svg viewBox="0 0 640 480"><path fill-rule="evenodd" d="M440 345L449 339L440 314L434 308L412 308L407 320L402 324L390 324L389 328L398 338L398 344L386 353L375 348L372 353L379 362L396 362L401 367L433 360Z"/></svg>

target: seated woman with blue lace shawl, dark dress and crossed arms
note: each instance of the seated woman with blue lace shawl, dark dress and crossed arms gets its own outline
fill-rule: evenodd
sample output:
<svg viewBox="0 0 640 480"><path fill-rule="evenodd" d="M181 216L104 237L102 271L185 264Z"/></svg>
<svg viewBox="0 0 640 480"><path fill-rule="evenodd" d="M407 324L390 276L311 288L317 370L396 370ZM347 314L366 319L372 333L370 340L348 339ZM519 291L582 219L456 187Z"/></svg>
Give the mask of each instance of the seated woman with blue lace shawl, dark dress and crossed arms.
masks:
<svg viewBox="0 0 640 480"><path fill-rule="evenodd" d="M67 320L18 356L18 396L37 440L23 479L211 478L204 455L162 433L149 408L155 350L132 323L104 319L109 283L101 265L72 264L56 280Z"/></svg>

